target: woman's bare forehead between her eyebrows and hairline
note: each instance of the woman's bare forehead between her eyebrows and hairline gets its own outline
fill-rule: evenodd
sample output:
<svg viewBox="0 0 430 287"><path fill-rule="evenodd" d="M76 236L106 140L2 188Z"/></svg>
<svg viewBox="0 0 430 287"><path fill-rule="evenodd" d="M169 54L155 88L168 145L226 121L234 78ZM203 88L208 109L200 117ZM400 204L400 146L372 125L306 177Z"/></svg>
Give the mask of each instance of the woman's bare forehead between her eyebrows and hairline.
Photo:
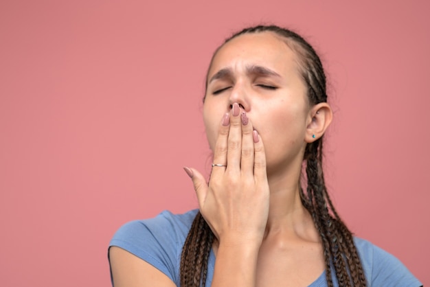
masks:
<svg viewBox="0 0 430 287"><path fill-rule="evenodd" d="M243 34L231 39L218 49L208 76L219 69L240 69L249 65L260 65L278 71L297 71L295 53L284 39L273 32Z"/></svg>

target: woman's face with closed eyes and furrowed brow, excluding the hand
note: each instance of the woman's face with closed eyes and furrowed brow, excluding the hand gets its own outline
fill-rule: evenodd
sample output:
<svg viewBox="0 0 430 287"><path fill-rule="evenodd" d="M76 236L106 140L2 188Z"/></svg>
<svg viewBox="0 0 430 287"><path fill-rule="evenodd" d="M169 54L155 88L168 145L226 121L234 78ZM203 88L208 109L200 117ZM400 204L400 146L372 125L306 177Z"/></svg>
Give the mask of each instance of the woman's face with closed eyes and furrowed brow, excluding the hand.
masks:
<svg viewBox="0 0 430 287"><path fill-rule="evenodd" d="M311 117L295 57L271 32L238 36L218 50L208 72L203 105L212 150L223 115L237 102L262 138L268 172L302 162Z"/></svg>

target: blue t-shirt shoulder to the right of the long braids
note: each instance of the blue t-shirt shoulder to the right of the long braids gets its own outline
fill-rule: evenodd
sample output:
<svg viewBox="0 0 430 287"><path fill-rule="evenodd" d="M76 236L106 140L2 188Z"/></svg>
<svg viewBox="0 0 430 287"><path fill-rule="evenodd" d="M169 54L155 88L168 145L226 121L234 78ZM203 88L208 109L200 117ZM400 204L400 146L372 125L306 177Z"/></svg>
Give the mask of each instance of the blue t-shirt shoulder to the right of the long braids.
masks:
<svg viewBox="0 0 430 287"><path fill-rule="evenodd" d="M400 262L394 255L384 251L383 249L367 242L360 240L359 245L362 245L361 257L365 273L370 286L389 286L389 287L419 287L422 283L412 275L407 267ZM357 242L357 241L356 241ZM363 245L367 245L363 247ZM367 271L367 272L366 272ZM370 275L370 276L369 276Z"/></svg>

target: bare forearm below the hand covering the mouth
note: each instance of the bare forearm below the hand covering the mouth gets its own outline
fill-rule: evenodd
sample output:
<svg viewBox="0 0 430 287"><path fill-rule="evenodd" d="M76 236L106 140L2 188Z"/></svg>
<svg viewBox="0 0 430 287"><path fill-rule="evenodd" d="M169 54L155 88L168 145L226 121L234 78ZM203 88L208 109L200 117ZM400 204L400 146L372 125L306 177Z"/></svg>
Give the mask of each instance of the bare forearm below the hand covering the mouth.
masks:
<svg viewBox="0 0 430 287"><path fill-rule="evenodd" d="M260 244L220 242L212 287L256 286L259 249Z"/></svg>

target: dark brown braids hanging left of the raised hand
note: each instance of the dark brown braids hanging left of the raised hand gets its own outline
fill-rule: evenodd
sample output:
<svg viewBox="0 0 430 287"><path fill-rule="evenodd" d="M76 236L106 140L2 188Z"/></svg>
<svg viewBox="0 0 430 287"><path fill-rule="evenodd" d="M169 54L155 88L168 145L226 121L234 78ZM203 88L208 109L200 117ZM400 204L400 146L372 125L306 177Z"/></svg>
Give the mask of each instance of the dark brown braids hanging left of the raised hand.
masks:
<svg viewBox="0 0 430 287"><path fill-rule="evenodd" d="M214 242L214 233L207 225L200 211L192 222L190 231L181 254L180 277L181 286L205 286L207 262Z"/></svg>

